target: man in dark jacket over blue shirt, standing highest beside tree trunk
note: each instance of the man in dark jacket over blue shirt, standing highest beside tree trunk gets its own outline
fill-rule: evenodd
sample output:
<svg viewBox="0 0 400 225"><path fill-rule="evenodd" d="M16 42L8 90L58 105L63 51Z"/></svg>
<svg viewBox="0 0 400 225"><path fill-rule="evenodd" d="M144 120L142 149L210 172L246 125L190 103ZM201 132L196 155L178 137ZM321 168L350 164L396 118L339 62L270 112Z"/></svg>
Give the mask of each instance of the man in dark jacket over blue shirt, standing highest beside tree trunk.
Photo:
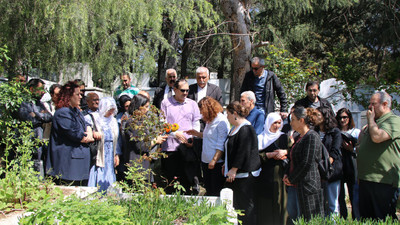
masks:
<svg viewBox="0 0 400 225"><path fill-rule="evenodd" d="M280 112L283 119L288 116L287 99L279 78L274 72L265 70L265 61L258 57L251 60L251 71L247 72L240 93L252 91L256 95L255 106L268 115L275 112L275 94L280 102Z"/></svg>

